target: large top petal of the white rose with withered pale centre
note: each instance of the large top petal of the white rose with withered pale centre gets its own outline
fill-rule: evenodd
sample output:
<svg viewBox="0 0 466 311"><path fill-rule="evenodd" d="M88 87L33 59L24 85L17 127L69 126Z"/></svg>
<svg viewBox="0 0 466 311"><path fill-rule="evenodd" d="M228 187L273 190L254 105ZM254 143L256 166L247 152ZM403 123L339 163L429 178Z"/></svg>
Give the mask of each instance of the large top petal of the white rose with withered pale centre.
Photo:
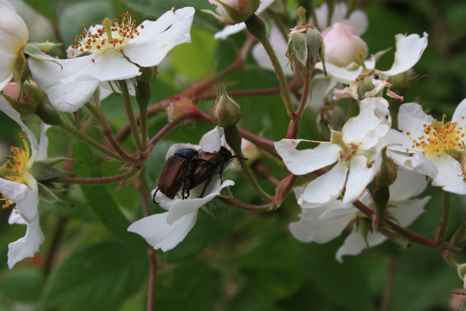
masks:
<svg viewBox="0 0 466 311"><path fill-rule="evenodd" d="M361 101L361 111L343 125L343 141L354 143L363 150L375 146L380 138L387 135L391 126L388 102L382 97L366 98Z"/></svg>

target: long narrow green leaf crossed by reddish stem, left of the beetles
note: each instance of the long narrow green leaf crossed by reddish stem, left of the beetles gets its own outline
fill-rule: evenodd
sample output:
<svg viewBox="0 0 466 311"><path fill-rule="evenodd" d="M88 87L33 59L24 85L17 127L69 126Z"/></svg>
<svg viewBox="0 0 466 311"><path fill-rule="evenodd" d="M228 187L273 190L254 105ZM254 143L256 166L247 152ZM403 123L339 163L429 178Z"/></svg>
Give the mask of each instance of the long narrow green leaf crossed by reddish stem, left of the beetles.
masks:
<svg viewBox="0 0 466 311"><path fill-rule="evenodd" d="M89 146L77 139L75 139L73 144L73 159L81 161L80 163L75 162L73 165L79 176L99 177L96 176L97 170L94 164L94 157ZM104 186L80 185L80 187L91 214L113 235L141 247L149 247L143 237L127 231L130 222L122 214L110 195L107 194Z"/></svg>

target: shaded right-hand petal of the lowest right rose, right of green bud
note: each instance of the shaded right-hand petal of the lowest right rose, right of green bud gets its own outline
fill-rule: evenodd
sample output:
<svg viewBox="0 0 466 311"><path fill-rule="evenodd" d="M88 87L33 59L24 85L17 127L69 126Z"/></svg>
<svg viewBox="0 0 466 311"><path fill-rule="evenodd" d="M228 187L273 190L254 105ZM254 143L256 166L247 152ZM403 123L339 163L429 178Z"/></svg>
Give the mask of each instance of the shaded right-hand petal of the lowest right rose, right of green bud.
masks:
<svg viewBox="0 0 466 311"><path fill-rule="evenodd" d="M399 201L422 194L427 188L428 181L425 180L425 175L419 173L411 173L404 167L400 167L397 174L397 179L390 186L390 200Z"/></svg>

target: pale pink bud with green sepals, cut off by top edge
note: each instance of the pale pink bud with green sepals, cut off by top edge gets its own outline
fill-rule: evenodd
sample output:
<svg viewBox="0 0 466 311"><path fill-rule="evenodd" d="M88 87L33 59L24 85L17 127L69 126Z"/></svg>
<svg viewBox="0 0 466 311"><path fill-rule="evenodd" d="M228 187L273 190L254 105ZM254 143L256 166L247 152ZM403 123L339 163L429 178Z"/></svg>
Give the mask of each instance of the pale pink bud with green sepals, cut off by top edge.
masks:
<svg viewBox="0 0 466 311"><path fill-rule="evenodd" d="M211 14L224 25L234 25L246 21L260 5L260 0L209 0L209 2L217 5L219 14L212 12L212 10L201 11Z"/></svg>

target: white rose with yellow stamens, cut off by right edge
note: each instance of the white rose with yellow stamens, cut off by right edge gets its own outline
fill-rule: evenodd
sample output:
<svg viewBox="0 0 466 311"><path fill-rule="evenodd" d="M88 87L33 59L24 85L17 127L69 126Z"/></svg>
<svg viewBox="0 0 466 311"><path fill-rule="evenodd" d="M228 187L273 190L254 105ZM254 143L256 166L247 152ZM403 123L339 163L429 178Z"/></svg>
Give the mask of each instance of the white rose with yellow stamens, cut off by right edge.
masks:
<svg viewBox="0 0 466 311"><path fill-rule="evenodd" d="M434 120L417 103L402 104L398 112L401 132L392 129L384 138L387 148L394 151L389 155L408 170L431 177L432 186L466 194L460 163L466 139L465 117L466 99L458 105L450 122Z"/></svg>

